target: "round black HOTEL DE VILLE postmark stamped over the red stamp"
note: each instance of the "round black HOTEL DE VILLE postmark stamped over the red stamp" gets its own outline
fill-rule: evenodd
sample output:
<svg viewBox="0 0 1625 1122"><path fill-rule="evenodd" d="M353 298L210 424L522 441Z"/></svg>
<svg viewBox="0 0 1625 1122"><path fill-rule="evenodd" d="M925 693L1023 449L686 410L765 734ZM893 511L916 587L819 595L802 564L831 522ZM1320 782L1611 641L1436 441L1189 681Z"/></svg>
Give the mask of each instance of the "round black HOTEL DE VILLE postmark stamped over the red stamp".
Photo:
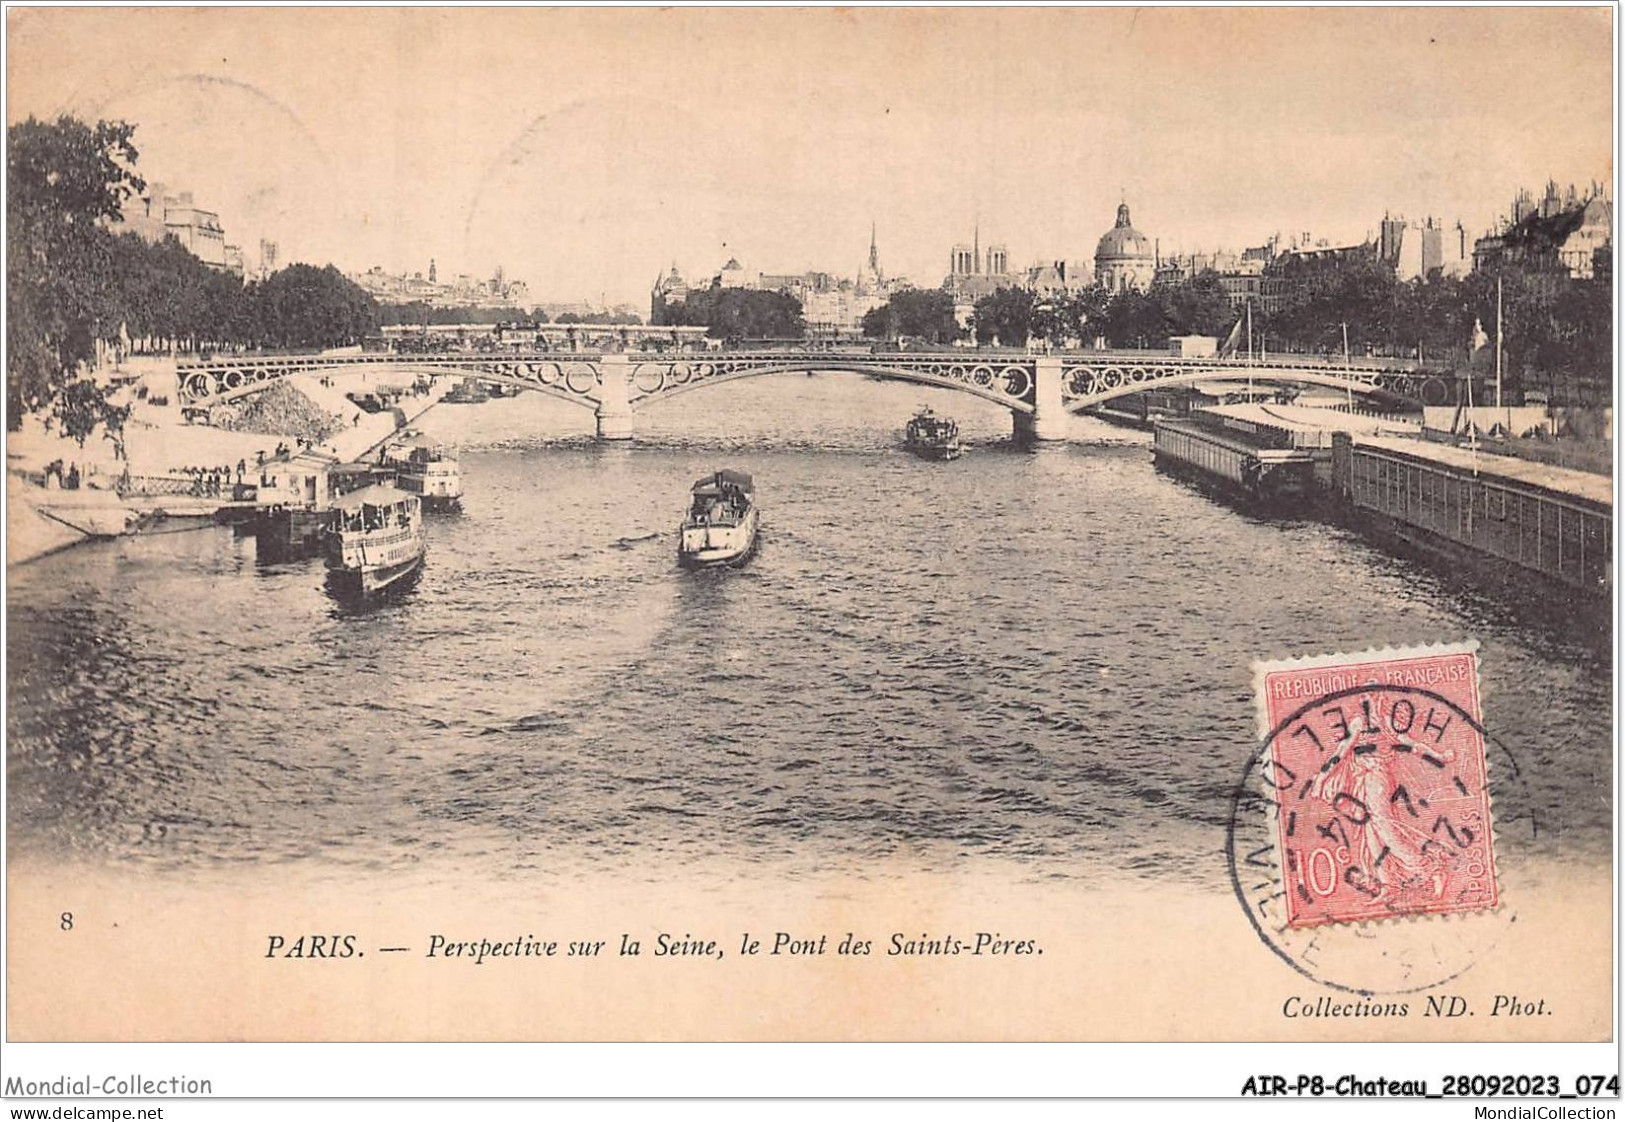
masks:
<svg viewBox="0 0 1625 1122"><path fill-rule="evenodd" d="M1258 938L1305 979L1358 995L1433 989L1516 922L1495 846L1532 839L1532 802L1476 715L1469 665L1467 693L1360 667L1264 706L1227 863ZM1497 798L1513 813L1492 823Z"/></svg>

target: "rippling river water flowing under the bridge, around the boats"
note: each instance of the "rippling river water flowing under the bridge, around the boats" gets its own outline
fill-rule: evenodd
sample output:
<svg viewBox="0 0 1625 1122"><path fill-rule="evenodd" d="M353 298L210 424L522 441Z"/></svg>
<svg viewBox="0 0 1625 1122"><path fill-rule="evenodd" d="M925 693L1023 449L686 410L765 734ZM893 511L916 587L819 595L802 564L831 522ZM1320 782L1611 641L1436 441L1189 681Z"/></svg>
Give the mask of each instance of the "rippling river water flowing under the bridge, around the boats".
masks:
<svg viewBox="0 0 1625 1122"><path fill-rule="evenodd" d="M900 450L930 400L975 447ZM968 397L734 384L634 446L526 395L439 407L465 512L356 613L229 528L10 574L13 852L114 867L492 876L704 860L1212 881L1254 741L1250 662L1480 642L1534 847L1606 860L1606 642L1539 602L1159 475L1077 420L1020 450ZM689 483L754 473L760 554L684 572ZM1597 608L1606 611L1606 608ZM1503 854L1514 860L1516 854Z"/></svg>

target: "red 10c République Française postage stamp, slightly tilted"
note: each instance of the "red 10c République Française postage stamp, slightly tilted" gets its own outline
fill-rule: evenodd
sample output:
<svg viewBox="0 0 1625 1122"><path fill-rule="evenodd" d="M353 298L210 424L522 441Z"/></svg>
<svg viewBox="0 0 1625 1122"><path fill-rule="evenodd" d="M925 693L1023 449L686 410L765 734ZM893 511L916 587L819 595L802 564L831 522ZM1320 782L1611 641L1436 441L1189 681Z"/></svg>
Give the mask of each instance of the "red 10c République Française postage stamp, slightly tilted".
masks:
<svg viewBox="0 0 1625 1122"><path fill-rule="evenodd" d="M1289 925L1500 902L1477 644L1253 670Z"/></svg>

